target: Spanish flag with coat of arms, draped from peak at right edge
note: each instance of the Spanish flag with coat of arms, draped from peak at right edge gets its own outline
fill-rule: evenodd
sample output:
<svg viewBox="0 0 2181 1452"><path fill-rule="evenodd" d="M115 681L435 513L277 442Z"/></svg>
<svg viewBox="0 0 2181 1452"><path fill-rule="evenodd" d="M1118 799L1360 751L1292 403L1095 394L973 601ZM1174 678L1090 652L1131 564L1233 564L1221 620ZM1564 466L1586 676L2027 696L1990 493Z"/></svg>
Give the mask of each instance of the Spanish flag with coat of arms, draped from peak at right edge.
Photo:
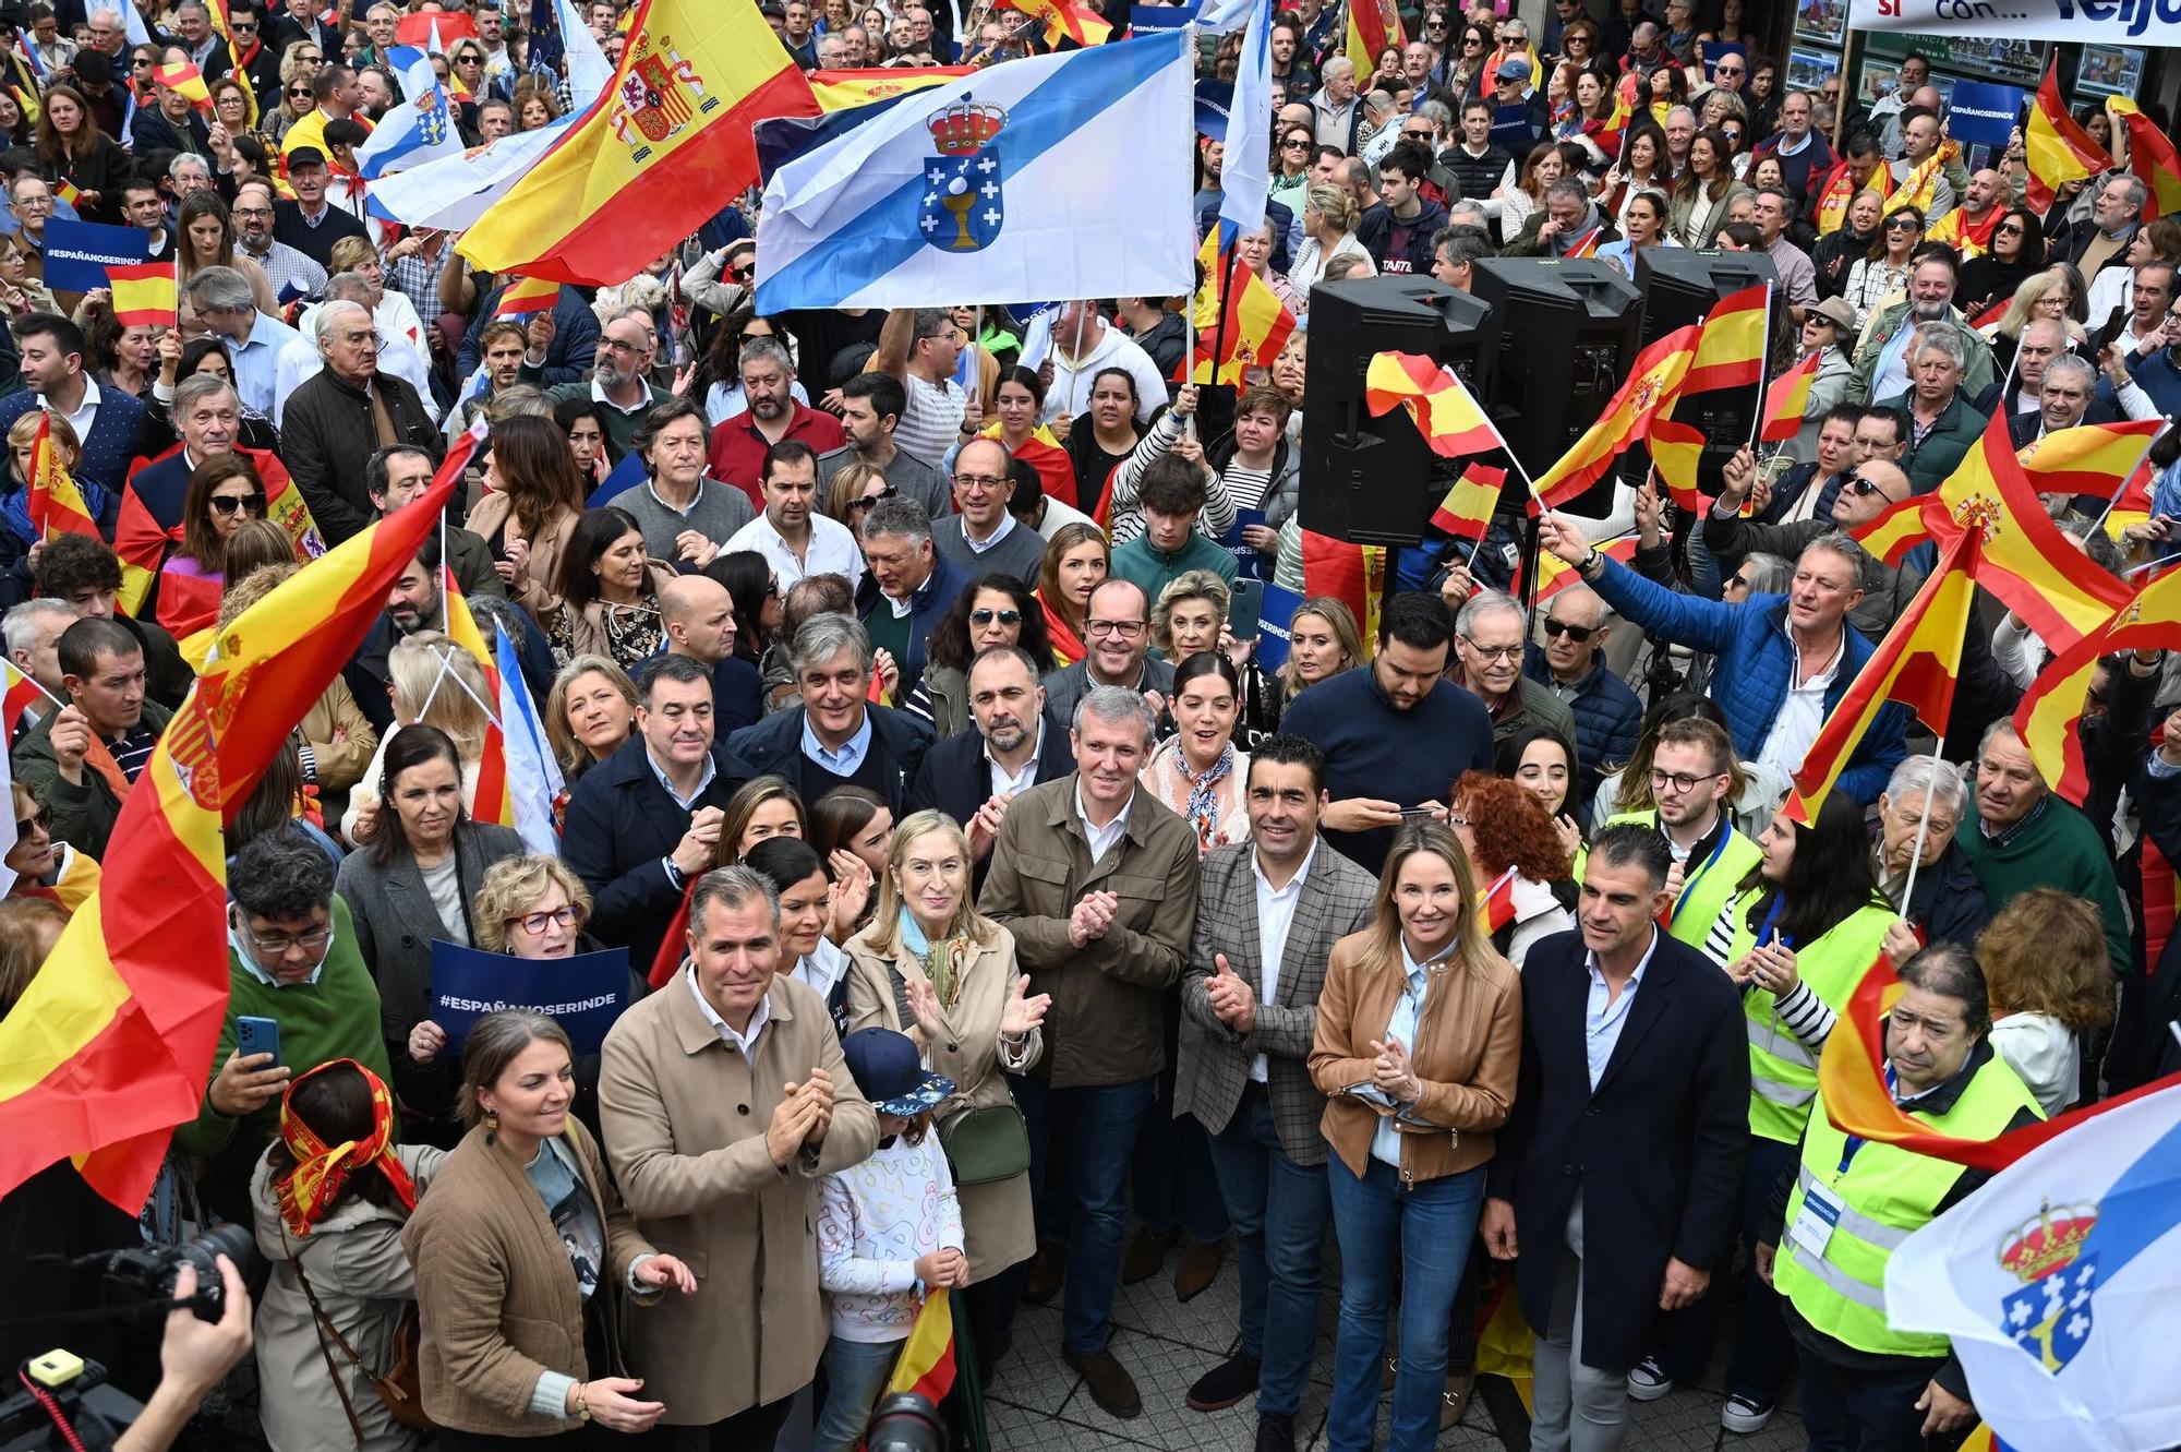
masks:
<svg viewBox="0 0 2181 1452"><path fill-rule="evenodd" d="M1854 536L1882 560L1900 560L1926 539L1943 549L1965 532L1983 534L1976 582L2052 650L2068 650L2129 604L2129 586L2089 562L2052 523L2037 488L2015 460L2007 410L1935 495L1887 508Z"/></svg>

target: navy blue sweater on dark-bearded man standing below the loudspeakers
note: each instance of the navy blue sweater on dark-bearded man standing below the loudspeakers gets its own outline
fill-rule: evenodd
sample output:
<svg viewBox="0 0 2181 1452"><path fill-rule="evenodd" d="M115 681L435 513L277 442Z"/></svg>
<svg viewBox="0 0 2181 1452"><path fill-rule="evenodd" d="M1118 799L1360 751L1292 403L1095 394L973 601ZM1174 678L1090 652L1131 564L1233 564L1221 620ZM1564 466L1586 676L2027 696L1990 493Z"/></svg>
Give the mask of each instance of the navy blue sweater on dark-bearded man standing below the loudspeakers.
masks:
<svg viewBox="0 0 2181 1452"><path fill-rule="evenodd" d="M1413 711L1396 711L1372 667L1343 671L1298 695L1280 719L1326 754L1326 791L1422 807L1446 802L1455 778L1492 770L1492 715L1485 704L1442 680ZM1333 848L1370 872L1385 868L1391 826L1326 833Z"/></svg>

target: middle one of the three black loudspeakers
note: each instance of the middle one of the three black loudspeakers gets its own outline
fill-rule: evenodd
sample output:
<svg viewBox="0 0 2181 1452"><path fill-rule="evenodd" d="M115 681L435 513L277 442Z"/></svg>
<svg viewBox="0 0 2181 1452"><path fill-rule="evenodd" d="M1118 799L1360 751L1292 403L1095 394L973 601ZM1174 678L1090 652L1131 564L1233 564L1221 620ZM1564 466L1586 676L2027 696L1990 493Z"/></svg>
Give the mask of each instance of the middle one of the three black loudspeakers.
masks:
<svg viewBox="0 0 2181 1452"><path fill-rule="evenodd" d="M1594 257L1481 257L1470 275L1501 318L1501 432L1531 475L1544 473L1627 377L1642 294ZM1612 497L1605 475L1568 508L1603 517Z"/></svg>

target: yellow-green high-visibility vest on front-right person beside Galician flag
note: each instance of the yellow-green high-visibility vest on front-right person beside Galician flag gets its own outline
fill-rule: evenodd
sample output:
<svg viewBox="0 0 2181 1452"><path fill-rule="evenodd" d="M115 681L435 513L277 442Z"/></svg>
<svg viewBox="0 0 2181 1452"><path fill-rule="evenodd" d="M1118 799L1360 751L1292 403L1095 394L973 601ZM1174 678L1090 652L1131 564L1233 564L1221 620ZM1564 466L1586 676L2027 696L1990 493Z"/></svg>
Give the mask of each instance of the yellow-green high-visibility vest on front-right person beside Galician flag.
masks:
<svg viewBox="0 0 2181 1452"><path fill-rule="evenodd" d="M1998 1138L2024 1108L2035 1112L2037 1099L2007 1060L1993 1053L1952 1110L1911 1112L1911 1116L1930 1125L1935 1134L1989 1140ZM1945 1356L1945 1336L1893 1330L1887 1323L1887 1258L1902 1241L1930 1225L1939 1201L1959 1177L1959 1164L1897 1145L1858 1140L1852 1149L1847 1136L1819 1105L1810 1114L1810 1134L1795 1169L1795 1190L1786 1199L1788 1234L1780 1236L1773 1286L1815 1330L1858 1352ZM1823 1214L1812 1210L1815 1223L1830 1219L1832 1206L1839 1208L1823 1254L1812 1254L1793 1234L1812 1186L1821 1186L1823 1199L1830 1201L1821 1206Z"/></svg>

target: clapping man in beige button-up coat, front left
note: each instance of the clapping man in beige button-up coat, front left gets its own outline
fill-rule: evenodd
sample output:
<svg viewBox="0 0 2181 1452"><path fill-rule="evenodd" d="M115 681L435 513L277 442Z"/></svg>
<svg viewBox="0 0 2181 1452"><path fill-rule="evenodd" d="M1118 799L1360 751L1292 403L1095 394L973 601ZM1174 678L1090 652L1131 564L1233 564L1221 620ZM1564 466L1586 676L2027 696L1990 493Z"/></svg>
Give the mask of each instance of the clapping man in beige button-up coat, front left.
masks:
<svg viewBox="0 0 2181 1452"><path fill-rule="evenodd" d="M707 874L689 968L613 1025L598 1079L622 1199L698 1278L628 1343L630 1376L689 1452L770 1448L818 1371L818 1179L879 1142L824 1001L774 977L779 916L748 868Z"/></svg>

